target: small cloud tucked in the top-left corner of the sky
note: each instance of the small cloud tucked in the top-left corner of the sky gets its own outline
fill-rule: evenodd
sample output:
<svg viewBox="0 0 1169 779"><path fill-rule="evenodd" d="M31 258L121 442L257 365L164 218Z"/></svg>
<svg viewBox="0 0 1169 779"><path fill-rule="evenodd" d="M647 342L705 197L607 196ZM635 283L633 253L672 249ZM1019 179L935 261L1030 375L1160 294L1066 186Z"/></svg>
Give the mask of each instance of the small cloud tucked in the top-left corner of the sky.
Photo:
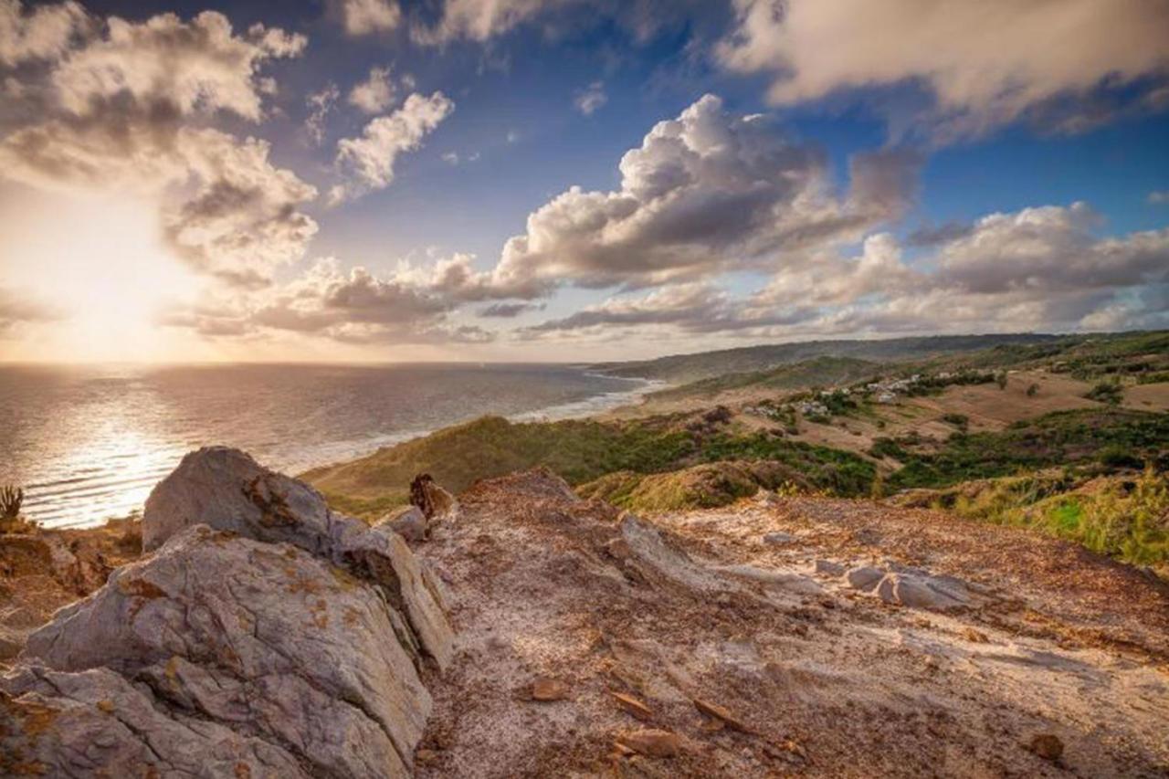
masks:
<svg viewBox="0 0 1169 779"><path fill-rule="evenodd" d="M53 60L87 34L92 20L81 4L25 8L21 0L0 0L0 64Z"/></svg>

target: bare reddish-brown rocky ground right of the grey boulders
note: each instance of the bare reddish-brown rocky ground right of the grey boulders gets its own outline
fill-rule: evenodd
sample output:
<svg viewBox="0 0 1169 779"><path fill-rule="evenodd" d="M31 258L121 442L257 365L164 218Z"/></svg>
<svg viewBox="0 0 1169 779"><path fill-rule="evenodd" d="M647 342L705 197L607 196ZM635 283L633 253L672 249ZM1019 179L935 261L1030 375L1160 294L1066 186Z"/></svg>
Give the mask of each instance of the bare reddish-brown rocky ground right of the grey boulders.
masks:
<svg viewBox="0 0 1169 779"><path fill-rule="evenodd" d="M416 547L459 634L419 775L1169 774L1169 590L1078 547L870 502L622 518L540 474L462 502Z"/></svg>

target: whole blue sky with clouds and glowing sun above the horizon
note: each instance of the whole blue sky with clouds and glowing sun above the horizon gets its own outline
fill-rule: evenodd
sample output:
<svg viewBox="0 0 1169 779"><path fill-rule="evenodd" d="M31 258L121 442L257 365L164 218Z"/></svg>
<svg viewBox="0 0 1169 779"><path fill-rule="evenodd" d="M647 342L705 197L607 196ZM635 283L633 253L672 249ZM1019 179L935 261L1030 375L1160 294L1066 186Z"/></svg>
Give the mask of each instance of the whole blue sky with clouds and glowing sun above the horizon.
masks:
<svg viewBox="0 0 1169 779"><path fill-rule="evenodd" d="M0 0L0 360L1169 328L1169 0Z"/></svg>

